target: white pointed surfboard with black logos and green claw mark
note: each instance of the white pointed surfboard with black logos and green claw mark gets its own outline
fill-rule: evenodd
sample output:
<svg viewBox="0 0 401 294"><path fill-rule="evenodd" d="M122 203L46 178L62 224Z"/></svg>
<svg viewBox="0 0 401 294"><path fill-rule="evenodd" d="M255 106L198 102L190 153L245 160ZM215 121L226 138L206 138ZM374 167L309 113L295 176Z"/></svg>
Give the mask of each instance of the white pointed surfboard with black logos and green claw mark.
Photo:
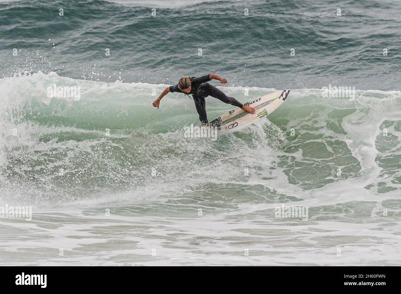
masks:
<svg viewBox="0 0 401 294"><path fill-rule="evenodd" d="M230 110L215 120L212 120L211 126L217 126L219 130L235 131L248 124L271 114L286 100L291 90L279 90L267 94L259 99L245 103L247 106L255 108L255 113L251 114L241 108Z"/></svg>

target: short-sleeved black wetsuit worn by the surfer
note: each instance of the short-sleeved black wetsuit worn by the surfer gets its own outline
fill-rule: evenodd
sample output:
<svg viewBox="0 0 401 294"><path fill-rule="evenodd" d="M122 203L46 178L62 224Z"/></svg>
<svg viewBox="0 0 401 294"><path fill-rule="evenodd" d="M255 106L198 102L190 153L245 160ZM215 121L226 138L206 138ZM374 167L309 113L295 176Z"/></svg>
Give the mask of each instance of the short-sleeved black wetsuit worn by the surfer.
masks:
<svg viewBox="0 0 401 294"><path fill-rule="evenodd" d="M192 94L192 98L194 99L195 102L196 111L199 114L199 120L201 120L201 122L203 123L208 122L206 114L206 106L205 106L206 104L205 98L207 96L212 96L214 98L223 101L224 103L242 108L242 103L238 102L237 99L227 96L219 89L217 89L215 86L212 86L211 84L207 83L211 80L209 78L209 74L207 76L201 76L199 78L192 77L190 78L190 80L191 80L191 92L189 92L188 94ZM184 93L178 88L178 84L170 86L170 92Z"/></svg>

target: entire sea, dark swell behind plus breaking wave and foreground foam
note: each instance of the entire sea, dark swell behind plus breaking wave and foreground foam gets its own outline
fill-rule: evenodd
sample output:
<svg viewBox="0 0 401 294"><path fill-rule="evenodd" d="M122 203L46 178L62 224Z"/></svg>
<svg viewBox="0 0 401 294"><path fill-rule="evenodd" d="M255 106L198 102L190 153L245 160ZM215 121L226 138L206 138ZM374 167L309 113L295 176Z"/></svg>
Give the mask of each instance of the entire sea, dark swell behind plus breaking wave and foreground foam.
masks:
<svg viewBox="0 0 401 294"><path fill-rule="evenodd" d="M399 1L0 2L0 206L32 208L0 218L2 265L400 265L400 15ZM292 91L249 128L185 138L194 102L152 102L210 73L241 102ZM80 99L49 98L54 84ZM233 108L206 103L209 120Z"/></svg>

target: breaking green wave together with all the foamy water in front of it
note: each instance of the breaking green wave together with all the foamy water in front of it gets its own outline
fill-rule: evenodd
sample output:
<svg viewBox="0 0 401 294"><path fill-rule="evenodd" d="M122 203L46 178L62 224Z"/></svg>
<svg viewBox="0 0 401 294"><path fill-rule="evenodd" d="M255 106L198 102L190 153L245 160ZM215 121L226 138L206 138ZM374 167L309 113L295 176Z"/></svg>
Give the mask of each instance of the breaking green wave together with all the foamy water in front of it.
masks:
<svg viewBox="0 0 401 294"><path fill-rule="evenodd" d="M80 99L47 95L76 86ZM185 138L166 84L0 79L6 265L399 265L400 91L293 89L241 132ZM245 102L276 90L219 86ZM247 91L244 91L247 89ZM249 96L245 96L248 93ZM232 106L207 98L209 119ZM308 219L277 207L308 207Z"/></svg>

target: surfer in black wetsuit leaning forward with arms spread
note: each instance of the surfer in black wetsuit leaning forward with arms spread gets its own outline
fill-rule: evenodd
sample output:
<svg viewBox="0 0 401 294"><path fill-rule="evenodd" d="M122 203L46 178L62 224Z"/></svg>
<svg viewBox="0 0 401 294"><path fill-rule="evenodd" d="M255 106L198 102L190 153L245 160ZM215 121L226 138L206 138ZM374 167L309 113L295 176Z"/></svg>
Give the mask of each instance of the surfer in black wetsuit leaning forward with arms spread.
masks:
<svg viewBox="0 0 401 294"><path fill-rule="evenodd" d="M227 83L226 79L221 78L217 74L208 74L207 76L201 76L199 78L180 78L178 84L174 86L167 87L163 90L162 94L154 100L153 106L159 108L160 100L169 92L179 92L184 93L189 97L189 94L192 94L192 98L195 102L196 111L199 114L199 120L202 123L207 124L207 114L206 114L206 105L205 98L207 96L212 96L214 98L223 101L224 103L231 104L237 106L246 112L255 113L255 108L246 106L237 101L237 99L233 97L229 97L224 94L222 91L217 89L215 86L212 86L208 82L211 80L219 80L221 84Z"/></svg>

